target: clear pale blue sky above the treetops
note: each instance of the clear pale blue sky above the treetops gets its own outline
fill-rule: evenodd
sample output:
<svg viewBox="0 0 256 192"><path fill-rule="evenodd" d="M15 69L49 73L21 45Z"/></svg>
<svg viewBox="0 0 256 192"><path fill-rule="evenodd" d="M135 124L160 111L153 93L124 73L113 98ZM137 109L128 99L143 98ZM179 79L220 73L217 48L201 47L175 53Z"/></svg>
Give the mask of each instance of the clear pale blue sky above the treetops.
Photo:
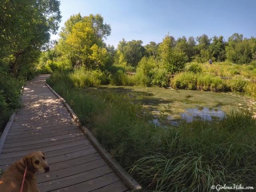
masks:
<svg viewBox="0 0 256 192"><path fill-rule="evenodd" d="M256 0L60 0L62 22L72 14L101 14L110 24L107 44L117 46L125 38L161 42L169 32L175 38L234 32L256 36ZM59 29L60 30L60 29ZM58 36L52 36L57 39Z"/></svg>

